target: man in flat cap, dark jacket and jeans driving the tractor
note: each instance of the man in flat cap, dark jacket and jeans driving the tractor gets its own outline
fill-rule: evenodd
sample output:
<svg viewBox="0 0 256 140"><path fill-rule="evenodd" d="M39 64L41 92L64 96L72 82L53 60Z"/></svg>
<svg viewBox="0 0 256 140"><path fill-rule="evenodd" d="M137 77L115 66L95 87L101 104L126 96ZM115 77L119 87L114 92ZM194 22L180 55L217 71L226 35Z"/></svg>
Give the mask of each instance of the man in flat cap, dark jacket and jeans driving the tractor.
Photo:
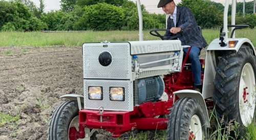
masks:
<svg viewBox="0 0 256 140"><path fill-rule="evenodd" d="M182 45L191 46L189 60L191 61L191 69L194 75L194 90L202 89L201 83L201 64L199 54L207 43L201 35L196 19L193 13L186 7L176 6L173 0L160 0L158 8L162 7L166 14L170 14L167 20L167 29L164 36L175 36L177 33L181 35L179 40ZM188 48L183 49L184 53L188 52Z"/></svg>

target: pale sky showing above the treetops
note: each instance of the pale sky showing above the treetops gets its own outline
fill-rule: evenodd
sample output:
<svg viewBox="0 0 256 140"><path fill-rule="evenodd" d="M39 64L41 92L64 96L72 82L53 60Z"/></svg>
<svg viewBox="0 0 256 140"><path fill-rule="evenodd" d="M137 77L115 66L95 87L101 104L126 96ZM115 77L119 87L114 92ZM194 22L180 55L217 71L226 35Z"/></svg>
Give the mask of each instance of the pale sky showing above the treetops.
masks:
<svg viewBox="0 0 256 140"><path fill-rule="evenodd" d="M39 6L39 0L31 0L37 6ZM45 12L51 10L59 10L60 9L60 0L44 0L45 1ZM136 1L136 0L131 0ZM179 3L181 0L174 0L174 2ZM212 0L217 3L225 3L225 0ZM231 2L231 0L229 0ZM246 2L253 1L253 0L246 0ZM146 10L151 13L163 13L161 8L157 8L157 4L159 0L140 0L141 4L145 5ZM243 2L243 0L237 0L237 2Z"/></svg>

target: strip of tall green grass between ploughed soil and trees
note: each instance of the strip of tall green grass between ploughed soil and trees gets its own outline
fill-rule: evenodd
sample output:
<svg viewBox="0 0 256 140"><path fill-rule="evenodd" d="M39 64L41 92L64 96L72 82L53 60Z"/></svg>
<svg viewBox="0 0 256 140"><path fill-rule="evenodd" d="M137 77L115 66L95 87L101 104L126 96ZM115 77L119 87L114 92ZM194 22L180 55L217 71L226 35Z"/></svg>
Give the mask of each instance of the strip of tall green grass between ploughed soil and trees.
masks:
<svg viewBox="0 0 256 140"><path fill-rule="evenodd" d="M203 36L210 43L219 38L219 30L203 30ZM256 46L256 29L237 31L237 37L246 37ZM135 41L138 31L86 31L80 33L42 33L42 32L0 32L0 46L81 46L84 42ZM159 39L144 31L144 40Z"/></svg>

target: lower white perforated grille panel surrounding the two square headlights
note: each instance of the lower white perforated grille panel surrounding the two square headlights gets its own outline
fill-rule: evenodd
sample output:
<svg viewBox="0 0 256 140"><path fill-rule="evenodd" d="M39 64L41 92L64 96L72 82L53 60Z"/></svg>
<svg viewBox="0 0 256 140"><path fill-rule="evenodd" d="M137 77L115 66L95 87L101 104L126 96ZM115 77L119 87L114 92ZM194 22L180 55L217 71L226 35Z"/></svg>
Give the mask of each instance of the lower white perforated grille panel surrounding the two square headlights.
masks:
<svg viewBox="0 0 256 140"><path fill-rule="evenodd" d="M88 87L102 86L103 100L89 100ZM110 87L124 87L125 100L111 101ZM133 82L130 80L84 80L84 108L104 110L132 111L133 110Z"/></svg>

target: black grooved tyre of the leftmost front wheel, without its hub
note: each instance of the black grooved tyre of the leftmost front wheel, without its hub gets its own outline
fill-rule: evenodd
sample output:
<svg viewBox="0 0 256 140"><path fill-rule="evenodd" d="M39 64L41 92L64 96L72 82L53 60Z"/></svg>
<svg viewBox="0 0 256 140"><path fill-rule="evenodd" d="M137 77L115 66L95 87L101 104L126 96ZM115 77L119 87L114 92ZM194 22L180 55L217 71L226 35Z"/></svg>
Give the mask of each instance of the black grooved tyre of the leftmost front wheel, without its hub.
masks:
<svg viewBox="0 0 256 140"><path fill-rule="evenodd" d="M71 121L78 115L77 101L67 101L58 106L49 125L48 140L68 140L68 129ZM91 137L91 139L94 139Z"/></svg>

